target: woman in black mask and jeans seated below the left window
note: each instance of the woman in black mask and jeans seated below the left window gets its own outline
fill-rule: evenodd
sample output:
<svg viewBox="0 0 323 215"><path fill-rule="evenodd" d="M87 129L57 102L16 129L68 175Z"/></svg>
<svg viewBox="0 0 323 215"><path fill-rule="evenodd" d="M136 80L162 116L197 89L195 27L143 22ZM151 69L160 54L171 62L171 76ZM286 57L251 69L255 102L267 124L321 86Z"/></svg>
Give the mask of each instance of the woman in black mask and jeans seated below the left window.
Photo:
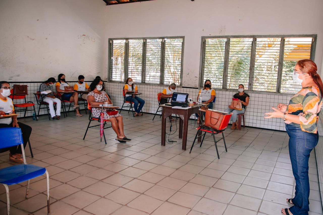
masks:
<svg viewBox="0 0 323 215"><path fill-rule="evenodd" d="M133 83L132 78L127 78L126 84L123 87L124 93L126 94L125 100L129 102L133 102L133 107L135 108L135 117L136 116L142 116L140 113L143 105L145 104L145 101L141 99L140 97L137 97L135 95L127 94L127 92L134 92L138 93L137 85ZM139 107L138 107L139 105Z"/></svg>

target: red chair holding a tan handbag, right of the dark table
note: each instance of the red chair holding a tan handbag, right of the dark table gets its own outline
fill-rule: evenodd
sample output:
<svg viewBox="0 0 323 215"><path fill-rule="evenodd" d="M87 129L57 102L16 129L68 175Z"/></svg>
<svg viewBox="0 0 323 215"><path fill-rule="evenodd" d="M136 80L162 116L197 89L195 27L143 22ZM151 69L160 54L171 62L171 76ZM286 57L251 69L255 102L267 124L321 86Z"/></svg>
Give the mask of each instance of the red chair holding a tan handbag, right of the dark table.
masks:
<svg viewBox="0 0 323 215"><path fill-rule="evenodd" d="M194 146L194 143L195 143L196 138L199 138L199 137L202 137L203 136L203 138L201 140L201 145L200 145L200 147L201 147L202 146L202 143L203 143L203 140L205 138L206 133L209 133L209 134L211 134L211 137L212 138L211 137L207 137L206 139L208 139L208 140L214 140L214 145L215 145L216 153L218 155L218 159L220 159L219 151L218 151L218 147L217 147L216 143L223 139L225 151L226 152L228 151L227 148L226 148L223 131L225 130L226 127L228 127L228 123L230 121L231 115L232 115L232 113L225 114L224 115L224 118L223 118L223 120L221 122L221 125L220 125L219 130L215 130L215 129L209 127L209 126L204 126L204 125L201 125L200 127L196 128L198 130L196 132L196 135L195 135L195 138L194 138L194 141L193 141L193 144L192 144L190 153L191 153L191 151L193 149L193 146ZM204 134L201 134L200 136L198 136L198 134L199 134L200 131L203 131ZM222 133L222 138L221 137L215 137L215 135L220 134L220 133Z"/></svg>

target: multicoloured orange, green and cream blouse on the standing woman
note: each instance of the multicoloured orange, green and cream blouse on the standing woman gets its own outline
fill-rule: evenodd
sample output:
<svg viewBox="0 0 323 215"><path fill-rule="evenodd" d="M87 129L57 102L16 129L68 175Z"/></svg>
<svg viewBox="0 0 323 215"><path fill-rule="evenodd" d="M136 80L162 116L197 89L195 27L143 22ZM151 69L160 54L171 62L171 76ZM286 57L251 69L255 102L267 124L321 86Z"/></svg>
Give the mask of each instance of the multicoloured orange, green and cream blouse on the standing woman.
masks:
<svg viewBox="0 0 323 215"><path fill-rule="evenodd" d="M316 86L304 87L289 101L288 113L298 115L300 124L285 123L301 128L302 131L317 133L318 116L322 106L320 89Z"/></svg>

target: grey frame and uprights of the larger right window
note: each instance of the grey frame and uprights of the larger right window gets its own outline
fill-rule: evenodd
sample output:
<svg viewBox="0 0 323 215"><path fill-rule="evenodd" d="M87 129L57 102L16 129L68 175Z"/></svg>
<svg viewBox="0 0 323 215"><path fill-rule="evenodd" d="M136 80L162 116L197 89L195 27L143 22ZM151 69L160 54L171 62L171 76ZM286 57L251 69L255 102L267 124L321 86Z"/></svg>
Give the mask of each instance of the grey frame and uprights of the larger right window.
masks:
<svg viewBox="0 0 323 215"><path fill-rule="evenodd" d="M253 90L253 78L255 72L255 52L256 52L256 38L270 38L270 37L280 37L281 44L280 44L280 52L279 52L279 62L278 62L278 76L277 76L277 83L276 83L276 92L268 92L268 91L257 91ZM252 48L251 48L251 58L250 58L250 69L249 69L249 81L248 81L248 92L256 92L256 93L266 93L266 94L286 94L291 95L290 93L280 93L281 90L281 77L282 77L282 66L283 66L283 52L284 52L284 38L285 37L312 37L312 44L311 44L311 51L310 51L310 58L314 61L315 59L315 51L316 51L316 41L317 41L317 34L302 34L302 35L228 35L228 36L202 36L201 37L201 53L200 53L200 68L199 68L199 87L203 87L204 82L204 57L205 57L205 39L214 39L214 38L226 38L225 44L225 57L224 57L224 69L223 69L223 85L222 88L227 91L234 91L233 89L226 88L227 85L227 77L228 77L228 53L229 53L229 42L230 38L253 38L252 41Z"/></svg>

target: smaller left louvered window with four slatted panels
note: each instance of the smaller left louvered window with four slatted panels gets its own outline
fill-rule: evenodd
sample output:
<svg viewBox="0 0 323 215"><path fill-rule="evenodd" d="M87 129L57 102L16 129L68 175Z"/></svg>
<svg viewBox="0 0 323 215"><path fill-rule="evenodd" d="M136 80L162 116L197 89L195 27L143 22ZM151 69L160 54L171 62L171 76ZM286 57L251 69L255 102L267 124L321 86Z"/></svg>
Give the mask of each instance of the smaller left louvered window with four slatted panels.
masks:
<svg viewBox="0 0 323 215"><path fill-rule="evenodd" d="M181 85L183 37L110 39L109 42L110 81L131 77L134 82Z"/></svg>

